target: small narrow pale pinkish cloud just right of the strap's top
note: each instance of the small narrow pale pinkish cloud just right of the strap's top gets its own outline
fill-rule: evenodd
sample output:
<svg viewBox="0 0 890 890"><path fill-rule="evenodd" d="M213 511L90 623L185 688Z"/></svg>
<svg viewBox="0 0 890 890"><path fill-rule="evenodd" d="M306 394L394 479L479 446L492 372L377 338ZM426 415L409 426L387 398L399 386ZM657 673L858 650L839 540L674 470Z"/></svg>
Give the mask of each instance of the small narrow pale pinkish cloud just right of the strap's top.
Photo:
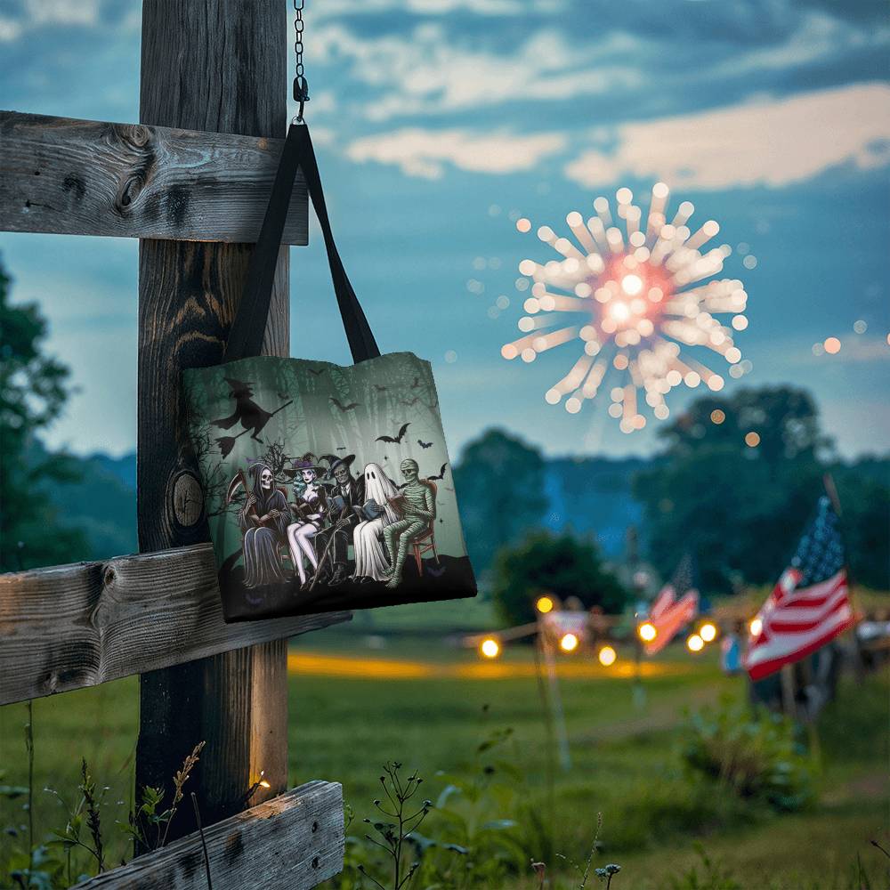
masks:
<svg viewBox="0 0 890 890"><path fill-rule="evenodd" d="M566 137L556 133L518 136L409 127L365 136L352 142L346 154L359 163L394 164L409 176L439 179L445 173L446 163L473 173L528 170L565 145Z"/></svg>

